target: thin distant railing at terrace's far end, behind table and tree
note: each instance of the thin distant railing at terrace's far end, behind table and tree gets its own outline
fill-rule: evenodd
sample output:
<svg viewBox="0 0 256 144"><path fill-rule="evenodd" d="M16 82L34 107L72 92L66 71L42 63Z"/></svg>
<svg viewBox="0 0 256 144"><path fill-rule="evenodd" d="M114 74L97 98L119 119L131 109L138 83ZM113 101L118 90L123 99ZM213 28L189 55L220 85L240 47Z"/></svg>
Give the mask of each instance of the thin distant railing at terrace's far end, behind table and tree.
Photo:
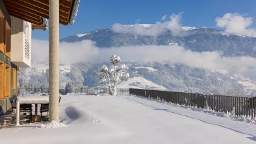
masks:
<svg viewBox="0 0 256 144"><path fill-rule="evenodd" d="M109 88L73 88L73 89L60 89L62 95L110 95ZM118 95L129 95L129 88L117 88ZM26 88L19 89L18 95L33 96L49 93L48 88Z"/></svg>

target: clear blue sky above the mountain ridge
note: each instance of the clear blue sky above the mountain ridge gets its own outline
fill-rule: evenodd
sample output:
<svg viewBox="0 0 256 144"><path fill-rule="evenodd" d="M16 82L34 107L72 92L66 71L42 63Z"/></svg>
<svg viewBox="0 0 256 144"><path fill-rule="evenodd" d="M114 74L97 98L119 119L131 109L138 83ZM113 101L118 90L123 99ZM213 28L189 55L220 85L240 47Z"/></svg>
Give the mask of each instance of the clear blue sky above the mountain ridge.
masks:
<svg viewBox="0 0 256 144"><path fill-rule="evenodd" d="M215 19L230 12L253 18L250 27L255 29L255 6L255 0L81 0L75 23L60 25L60 38L109 28L114 23L156 23L164 15L179 12L183 12L183 26L216 27ZM47 40L48 32L34 30L32 38Z"/></svg>

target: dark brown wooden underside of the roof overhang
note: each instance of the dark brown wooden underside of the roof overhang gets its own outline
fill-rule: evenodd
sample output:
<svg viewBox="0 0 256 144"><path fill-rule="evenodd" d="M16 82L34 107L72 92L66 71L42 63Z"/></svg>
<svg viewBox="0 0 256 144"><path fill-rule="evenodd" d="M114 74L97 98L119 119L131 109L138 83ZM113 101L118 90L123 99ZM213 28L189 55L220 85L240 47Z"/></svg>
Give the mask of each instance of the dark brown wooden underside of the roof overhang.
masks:
<svg viewBox="0 0 256 144"><path fill-rule="evenodd" d="M49 0L3 0L10 16L42 25L49 18ZM60 23L68 25L72 0L60 0Z"/></svg>

